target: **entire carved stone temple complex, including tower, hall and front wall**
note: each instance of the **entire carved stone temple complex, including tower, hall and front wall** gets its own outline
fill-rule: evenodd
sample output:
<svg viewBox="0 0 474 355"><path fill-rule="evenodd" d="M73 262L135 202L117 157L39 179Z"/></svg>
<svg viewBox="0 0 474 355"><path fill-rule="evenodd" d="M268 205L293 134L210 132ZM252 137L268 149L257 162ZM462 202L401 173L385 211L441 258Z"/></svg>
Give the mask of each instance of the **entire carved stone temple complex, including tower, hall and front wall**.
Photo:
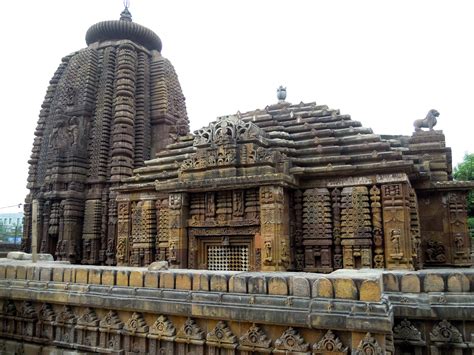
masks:
<svg viewBox="0 0 474 355"><path fill-rule="evenodd" d="M0 354L474 354L473 184L436 110L379 135L280 87L191 134L127 8L86 41L40 112Z"/></svg>

